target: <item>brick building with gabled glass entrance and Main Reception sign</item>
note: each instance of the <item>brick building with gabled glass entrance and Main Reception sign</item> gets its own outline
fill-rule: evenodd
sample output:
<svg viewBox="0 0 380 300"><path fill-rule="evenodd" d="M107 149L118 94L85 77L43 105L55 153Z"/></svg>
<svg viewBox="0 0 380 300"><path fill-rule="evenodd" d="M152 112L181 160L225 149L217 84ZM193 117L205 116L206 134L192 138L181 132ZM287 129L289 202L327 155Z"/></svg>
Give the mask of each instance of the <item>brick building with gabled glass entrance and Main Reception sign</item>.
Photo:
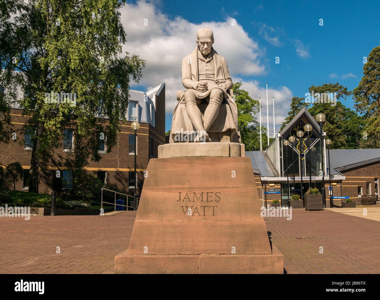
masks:
<svg viewBox="0 0 380 300"><path fill-rule="evenodd" d="M298 130L304 131L306 124L312 125L309 142L306 132L303 138L298 138L296 135ZM295 141L293 146L290 143L286 150L283 141L288 140L290 136L293 136ZM380 149L334 149L329 151L329 157L325 136L326 133L323 132L321 156L320 126L303 108L281 132L276 134L267 151L245 152L245 155L251 159L257 190L263 203L265 199L267 204L277 199L282 206L288 206L288 174L290 196L301 195L301 175L303 193L309 188L318 188L322 192L322 161L325 172L326 207L329 207L330 197L329 173L332 196L346 196L356 204L361 204L363 195L379 196ZM309 186L310 173L311 186ZM334 205L340 206L341 200L334 199Z"/></svg>

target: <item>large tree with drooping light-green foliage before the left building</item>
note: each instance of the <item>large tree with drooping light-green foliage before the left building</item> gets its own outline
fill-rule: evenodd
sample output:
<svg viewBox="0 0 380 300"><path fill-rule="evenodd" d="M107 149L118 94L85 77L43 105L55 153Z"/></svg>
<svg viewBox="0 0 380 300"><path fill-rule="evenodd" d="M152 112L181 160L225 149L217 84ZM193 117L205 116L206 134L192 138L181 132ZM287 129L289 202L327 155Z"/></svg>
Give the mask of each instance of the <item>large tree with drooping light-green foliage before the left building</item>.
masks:
<svg viewBox="0 0 380 300"><path fill-rule="evenodd" d="M23 129L36 130L31 192L38 192L40 167L62 146L66 128L74 130L75 168L89 158L101 159L101 137L108 152L116 144L119 121L126 121L130 80L138 82L145 66L136 55L121 57L125 2L6 0L0 5L0 66L6 70L1 81L21 85L22 114L30 116ZM14 22L10 13L16 14ZM70 103L64 93L71 93Z"/></svg>

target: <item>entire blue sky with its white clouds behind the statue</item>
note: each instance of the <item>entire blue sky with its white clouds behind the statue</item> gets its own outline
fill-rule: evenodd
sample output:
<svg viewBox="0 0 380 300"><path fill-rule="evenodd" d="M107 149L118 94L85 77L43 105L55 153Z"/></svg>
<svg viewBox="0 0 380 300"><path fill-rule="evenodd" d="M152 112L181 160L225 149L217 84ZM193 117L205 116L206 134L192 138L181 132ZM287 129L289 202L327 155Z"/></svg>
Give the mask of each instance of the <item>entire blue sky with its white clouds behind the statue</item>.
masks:
<svg viewBox="0 0 380 300"><path fill-rule="evenodd" d="M183 89L180 57L195 48L196 30L209 25L214 31L214 48L226 58L233 80L242 81L242 88L254 99L258 100L258 96L264 99L265 125L264 90L268 82L269 129L273 136L272 96L275 96L277 132L289 110L291 96L304 97L309 86L329 82L339 82L349 90L358 85L363 73L363 57L379 46L379 8L378 1L365 4L353 1L293 1L291 4L288 1L218 1L215 4L191 1L186 5L181 1L131 1L122 11L128 34L124 50L147 60L142 81L132 88L147 90L165 80L166 130L169 130L174 92ZM143 19L150 22L149 26L142 25ZM236 20L234 27L232 19ZM229 41L233 47L228 46ZM139 53L139 46L146 52ZM275 57L279 57L279 64L275 64ZM343 104L353 107L351 99Z"/></svg>

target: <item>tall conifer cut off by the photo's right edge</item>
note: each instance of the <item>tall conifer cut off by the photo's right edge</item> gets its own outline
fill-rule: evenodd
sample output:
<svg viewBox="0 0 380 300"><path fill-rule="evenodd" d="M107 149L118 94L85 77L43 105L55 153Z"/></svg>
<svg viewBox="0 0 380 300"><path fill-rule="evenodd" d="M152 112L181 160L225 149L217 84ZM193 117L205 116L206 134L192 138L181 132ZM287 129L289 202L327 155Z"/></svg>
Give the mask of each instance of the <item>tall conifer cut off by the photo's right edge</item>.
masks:
<svg viewBox="0 0 380 300"><path fill-rule="evenodd" d="M380 46L375 47L363 66L363 77L353 90L356 112L363 114L365 126L361 145L380 148Z"/></svg>

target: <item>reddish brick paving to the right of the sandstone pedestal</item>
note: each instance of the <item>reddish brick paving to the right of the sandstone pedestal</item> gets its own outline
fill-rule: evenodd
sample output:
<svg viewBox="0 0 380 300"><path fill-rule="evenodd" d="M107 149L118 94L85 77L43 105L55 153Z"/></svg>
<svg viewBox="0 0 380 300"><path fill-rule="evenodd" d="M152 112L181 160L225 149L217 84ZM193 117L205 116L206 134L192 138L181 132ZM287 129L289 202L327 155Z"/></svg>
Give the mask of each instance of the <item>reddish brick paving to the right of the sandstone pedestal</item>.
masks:
<svg viewBox="0 0 380 300"><path fill-rule="evenodd" d="M380 222L329 210L266 217L287 273L380 273ZM323 247L323 254L319 253Z"/></svg>

